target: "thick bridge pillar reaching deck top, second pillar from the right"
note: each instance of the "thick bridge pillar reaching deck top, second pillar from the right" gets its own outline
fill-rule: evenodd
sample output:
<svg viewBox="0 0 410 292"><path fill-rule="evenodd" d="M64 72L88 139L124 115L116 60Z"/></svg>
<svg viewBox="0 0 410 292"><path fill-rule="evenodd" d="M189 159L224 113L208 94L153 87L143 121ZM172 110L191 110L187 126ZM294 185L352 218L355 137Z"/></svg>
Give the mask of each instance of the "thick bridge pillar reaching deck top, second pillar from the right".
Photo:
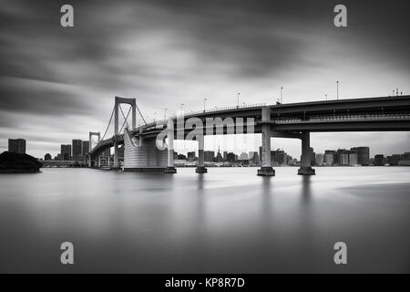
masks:
<svg viewBox="0 0 410 292"><path fill-rule="evenodd" d="M258 175L274 176L275 171L272 169L271 162L271 108L263 107L261 110L261 169L258 170Z"/></svg>

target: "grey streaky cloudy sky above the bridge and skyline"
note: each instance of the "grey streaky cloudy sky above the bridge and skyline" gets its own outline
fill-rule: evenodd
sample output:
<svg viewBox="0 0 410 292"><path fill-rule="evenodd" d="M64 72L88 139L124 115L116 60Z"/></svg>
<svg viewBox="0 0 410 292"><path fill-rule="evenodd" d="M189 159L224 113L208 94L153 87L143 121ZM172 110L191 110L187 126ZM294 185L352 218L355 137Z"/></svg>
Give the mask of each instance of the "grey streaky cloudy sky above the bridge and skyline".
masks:
<svg viewBox="0 0 410 292"><path fill-rule="evenodd" d="M74 6L75 27L60 26ZM333 7L347 6L347 27ZM43 156L104 131L115 95L136 97L149 120L179 110L241 103L410 93L409 2L7 1L0 2L0 151L25 138ZM316 151L369 145L409 151L410 134L313 134ZM259 140L257 141L259 142ZM208 139L208 148L220 141ZM248 142L249 144L249 142ZM293 156L300 142L275 140ZM250 149L251 150L251 149Z"/></svg>

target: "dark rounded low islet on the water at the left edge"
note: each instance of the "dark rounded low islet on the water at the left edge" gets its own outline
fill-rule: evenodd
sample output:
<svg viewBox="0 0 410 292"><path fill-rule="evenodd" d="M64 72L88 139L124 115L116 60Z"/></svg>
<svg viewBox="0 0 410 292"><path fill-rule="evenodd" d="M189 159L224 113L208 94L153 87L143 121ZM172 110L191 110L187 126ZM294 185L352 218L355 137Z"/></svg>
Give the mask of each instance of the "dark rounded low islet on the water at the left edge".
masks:
<svg viewBox="0 0 410 292"><path fill-rule="evenodd" d="M0 154L0 173L39 172L41 162L27 154L5 151Z"/></svg>

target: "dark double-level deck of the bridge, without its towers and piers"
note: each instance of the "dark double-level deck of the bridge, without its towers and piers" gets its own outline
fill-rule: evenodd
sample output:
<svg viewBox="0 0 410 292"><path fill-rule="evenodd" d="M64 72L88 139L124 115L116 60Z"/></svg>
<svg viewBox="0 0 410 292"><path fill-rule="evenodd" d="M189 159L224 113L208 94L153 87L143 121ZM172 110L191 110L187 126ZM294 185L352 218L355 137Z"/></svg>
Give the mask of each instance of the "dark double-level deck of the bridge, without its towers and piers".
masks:
<svg viewBox="0 0 410 292"><path fill-rule="evenodd" d="M190 112L187 115L172 116L174 120L197 118L206 123L207 119L213 118L236 118L253 119L253 132L261 132L261 109L264 104L251 106L228 107L205 111ZM352 131L352 130L410 130L410 96L380 97L366 99L339 99L299 102L289 104L269 105L271 108L272 130L278 133L287 132L294 136L303 130L309 131ZM143 135L146 138L155 137L159 131L165 129L168 120L158 120L146 125L139 126L131 133L135 136ZM213 125L211 126L213 127ZM175 129L177 125L175 124ZM223 127L222 134L230 133ZM243 127L246 133L246 127ZM204 127L206 129L206 127ZM186 129L189 132L191 129ZM218 130L210 131L211 134L219 133ZM236 133L236 131L234 131ZM207 134L207 132L204 132ZM93 156L124 142L123 135L100 141L90 151Z"/></svg>

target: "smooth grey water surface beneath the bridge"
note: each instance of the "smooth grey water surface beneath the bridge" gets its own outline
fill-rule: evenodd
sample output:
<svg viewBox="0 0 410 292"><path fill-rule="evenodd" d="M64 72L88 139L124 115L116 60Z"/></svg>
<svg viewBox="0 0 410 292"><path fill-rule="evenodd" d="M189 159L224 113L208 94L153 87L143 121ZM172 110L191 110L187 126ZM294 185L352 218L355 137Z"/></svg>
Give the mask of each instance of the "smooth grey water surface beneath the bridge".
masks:
<svg viewBox="0 0 410 292"><path fill-rule="evenodd" d="M0 272L410 272L410 168L256 170L0 175Z"/></svg>

